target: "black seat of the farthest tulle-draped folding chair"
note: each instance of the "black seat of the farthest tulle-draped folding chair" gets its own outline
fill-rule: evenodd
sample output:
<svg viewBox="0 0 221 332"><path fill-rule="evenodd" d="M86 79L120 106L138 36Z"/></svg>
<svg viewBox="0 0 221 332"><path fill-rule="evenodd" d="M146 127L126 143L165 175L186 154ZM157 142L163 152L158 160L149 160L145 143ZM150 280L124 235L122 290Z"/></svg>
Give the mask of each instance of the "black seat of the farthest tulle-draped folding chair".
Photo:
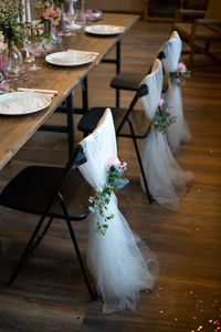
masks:
<svg viewBox="0 0 221 332"><path fill-rule="evenodd" d="M136 91L144 77L144 73L122 72L112 80L110 86L114 89Z"/></svg>

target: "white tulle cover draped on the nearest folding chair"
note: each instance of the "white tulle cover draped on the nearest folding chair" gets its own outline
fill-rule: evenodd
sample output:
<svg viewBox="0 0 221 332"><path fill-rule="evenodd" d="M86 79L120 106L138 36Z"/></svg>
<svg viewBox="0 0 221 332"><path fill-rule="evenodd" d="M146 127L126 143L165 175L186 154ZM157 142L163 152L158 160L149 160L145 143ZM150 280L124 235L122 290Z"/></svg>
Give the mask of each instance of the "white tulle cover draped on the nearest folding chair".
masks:
<svg viewBox="0 0 221 332"><path fill-rule="evenodd" d="M80 166L85 179L95 188L104 187L107 179L108 159L117 156L116 136L112 112L105 111L96 129L80 143L87 162ZM104 299L104 313L129 308L136 309L139 291L152 289L155 278L149 268L158 269L158 261L148 252L145 261L138 242L117 207L116 196L112 195L107 215L109 220L106 235L96 231L96 218L90 219L87 263L96 280L97 292ZM147 247L146 247L147 250Z"/></svg>

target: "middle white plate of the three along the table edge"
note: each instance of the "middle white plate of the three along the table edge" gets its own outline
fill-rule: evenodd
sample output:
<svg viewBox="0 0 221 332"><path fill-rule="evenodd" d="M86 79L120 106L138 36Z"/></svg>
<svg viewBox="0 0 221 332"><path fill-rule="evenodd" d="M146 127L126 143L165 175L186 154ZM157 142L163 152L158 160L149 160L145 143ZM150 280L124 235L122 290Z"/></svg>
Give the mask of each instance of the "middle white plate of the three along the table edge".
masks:
<svg viewBox="0 0 221 332"><path fill-rule="evenodd" d="M82 65L92 62L96 54L83 51L66 51L46 55L45 61L55 65Z"/></svg>

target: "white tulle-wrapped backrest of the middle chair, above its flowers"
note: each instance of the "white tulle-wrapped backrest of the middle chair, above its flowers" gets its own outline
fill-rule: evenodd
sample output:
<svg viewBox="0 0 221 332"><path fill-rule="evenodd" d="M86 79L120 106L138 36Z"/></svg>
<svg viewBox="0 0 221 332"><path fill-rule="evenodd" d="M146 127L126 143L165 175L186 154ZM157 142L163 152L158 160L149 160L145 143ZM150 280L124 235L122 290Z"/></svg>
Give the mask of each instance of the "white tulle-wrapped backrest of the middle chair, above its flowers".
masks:
<svg viewBox="0 0 221 332"><path fill-rule="evenodd" d="M148 94L141 96L143 105L147 117L151 121L157 112L158 101L162 89L162 64L156 59L148 74L141 82L140 86L147 86Z"/></svg>

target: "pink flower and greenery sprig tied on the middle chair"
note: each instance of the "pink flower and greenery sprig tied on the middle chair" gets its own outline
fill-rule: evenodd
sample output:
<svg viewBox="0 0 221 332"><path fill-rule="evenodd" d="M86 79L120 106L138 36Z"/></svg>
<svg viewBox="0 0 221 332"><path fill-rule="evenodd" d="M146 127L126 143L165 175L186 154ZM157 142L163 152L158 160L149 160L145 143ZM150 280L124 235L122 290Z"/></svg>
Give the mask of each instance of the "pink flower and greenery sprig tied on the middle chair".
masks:
<svg viewBox="0 0 221 332"><path fill-rule="evenodd" d="M171 116L167 103L162 98L159 98L157 113L152 121L156 132L167 134L168 127L175 123L176 120L176 116Z"/></svg>

